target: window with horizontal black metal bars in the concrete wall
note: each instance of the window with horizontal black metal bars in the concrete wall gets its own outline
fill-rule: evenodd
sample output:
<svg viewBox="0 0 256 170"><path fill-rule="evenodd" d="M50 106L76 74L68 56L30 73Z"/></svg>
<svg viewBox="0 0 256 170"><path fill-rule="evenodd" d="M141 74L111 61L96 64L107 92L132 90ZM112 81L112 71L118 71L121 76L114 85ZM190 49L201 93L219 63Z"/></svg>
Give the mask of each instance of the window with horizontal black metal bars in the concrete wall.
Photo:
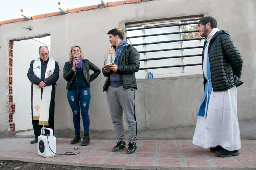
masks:
<svg viewBox="0 0 256 170"><path fill-rule="evenodd" d="M136 78L202 74L201 17L126 23L126 39L140 53Z"/></svg>

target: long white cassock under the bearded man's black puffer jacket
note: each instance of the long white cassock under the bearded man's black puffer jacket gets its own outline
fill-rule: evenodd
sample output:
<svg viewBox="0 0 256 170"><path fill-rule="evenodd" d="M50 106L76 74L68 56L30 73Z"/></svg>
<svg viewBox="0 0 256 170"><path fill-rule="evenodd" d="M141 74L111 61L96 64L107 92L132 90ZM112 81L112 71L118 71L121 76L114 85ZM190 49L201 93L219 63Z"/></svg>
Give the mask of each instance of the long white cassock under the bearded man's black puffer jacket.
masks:
<svg viewBox="0 0 256 170"><path fill-rule="evenodd" d="M211 37L218 31L214 28L207 37L207 47ZM206 75L206 60L203 63L203 73ZM208 81L209 82L209 81ZM225 91L215 91L212 88L208 108L204 116L198 116L192 143L204 148L221 145L229 151L241 148L240 130L237 118L237 88L232 87ZM206 99L205 99L206 100Z"/></svg>

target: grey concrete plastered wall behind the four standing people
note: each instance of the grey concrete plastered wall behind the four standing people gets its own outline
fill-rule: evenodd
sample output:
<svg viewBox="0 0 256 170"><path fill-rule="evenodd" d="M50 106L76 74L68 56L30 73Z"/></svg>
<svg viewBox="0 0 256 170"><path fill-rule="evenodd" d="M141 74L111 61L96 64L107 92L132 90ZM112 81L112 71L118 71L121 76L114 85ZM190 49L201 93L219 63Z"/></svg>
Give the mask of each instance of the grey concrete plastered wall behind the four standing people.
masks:
<svg viewBox="0 0 256 170"><path fill-rule="evenodd" d="M256 138L256 37L254 30L255 0L159 0L126 4L61 16L47 17L0 26L0 95L6 96L8 41L51 34L51 56L59 62L60 78L55 98L55 136L73 136L72 113L67 101L63 65L68 51L80 45L85 58L99 68L110 46L106 32L114 27L125 28L125 22L204 14L218 21L219 29L228 30L244 57L242 80L238 88L238 118L242 138ZM32 26L32 31L21 27ZM14 46L15 48L15 46ZM30 62L30 61L27 61ZM26 68L27 69L27 68ZM91 138L114 139L106 94L102 92L103 75L91 83L89 109ZM136 93L138 139L191 139L197 111L203 94L202 75L140 79ZM8 130L7 99L0 99L2 108L0 132ZM30 120L28 120L30 121ZM127 126L125 125L127 129Z"/></svg>

